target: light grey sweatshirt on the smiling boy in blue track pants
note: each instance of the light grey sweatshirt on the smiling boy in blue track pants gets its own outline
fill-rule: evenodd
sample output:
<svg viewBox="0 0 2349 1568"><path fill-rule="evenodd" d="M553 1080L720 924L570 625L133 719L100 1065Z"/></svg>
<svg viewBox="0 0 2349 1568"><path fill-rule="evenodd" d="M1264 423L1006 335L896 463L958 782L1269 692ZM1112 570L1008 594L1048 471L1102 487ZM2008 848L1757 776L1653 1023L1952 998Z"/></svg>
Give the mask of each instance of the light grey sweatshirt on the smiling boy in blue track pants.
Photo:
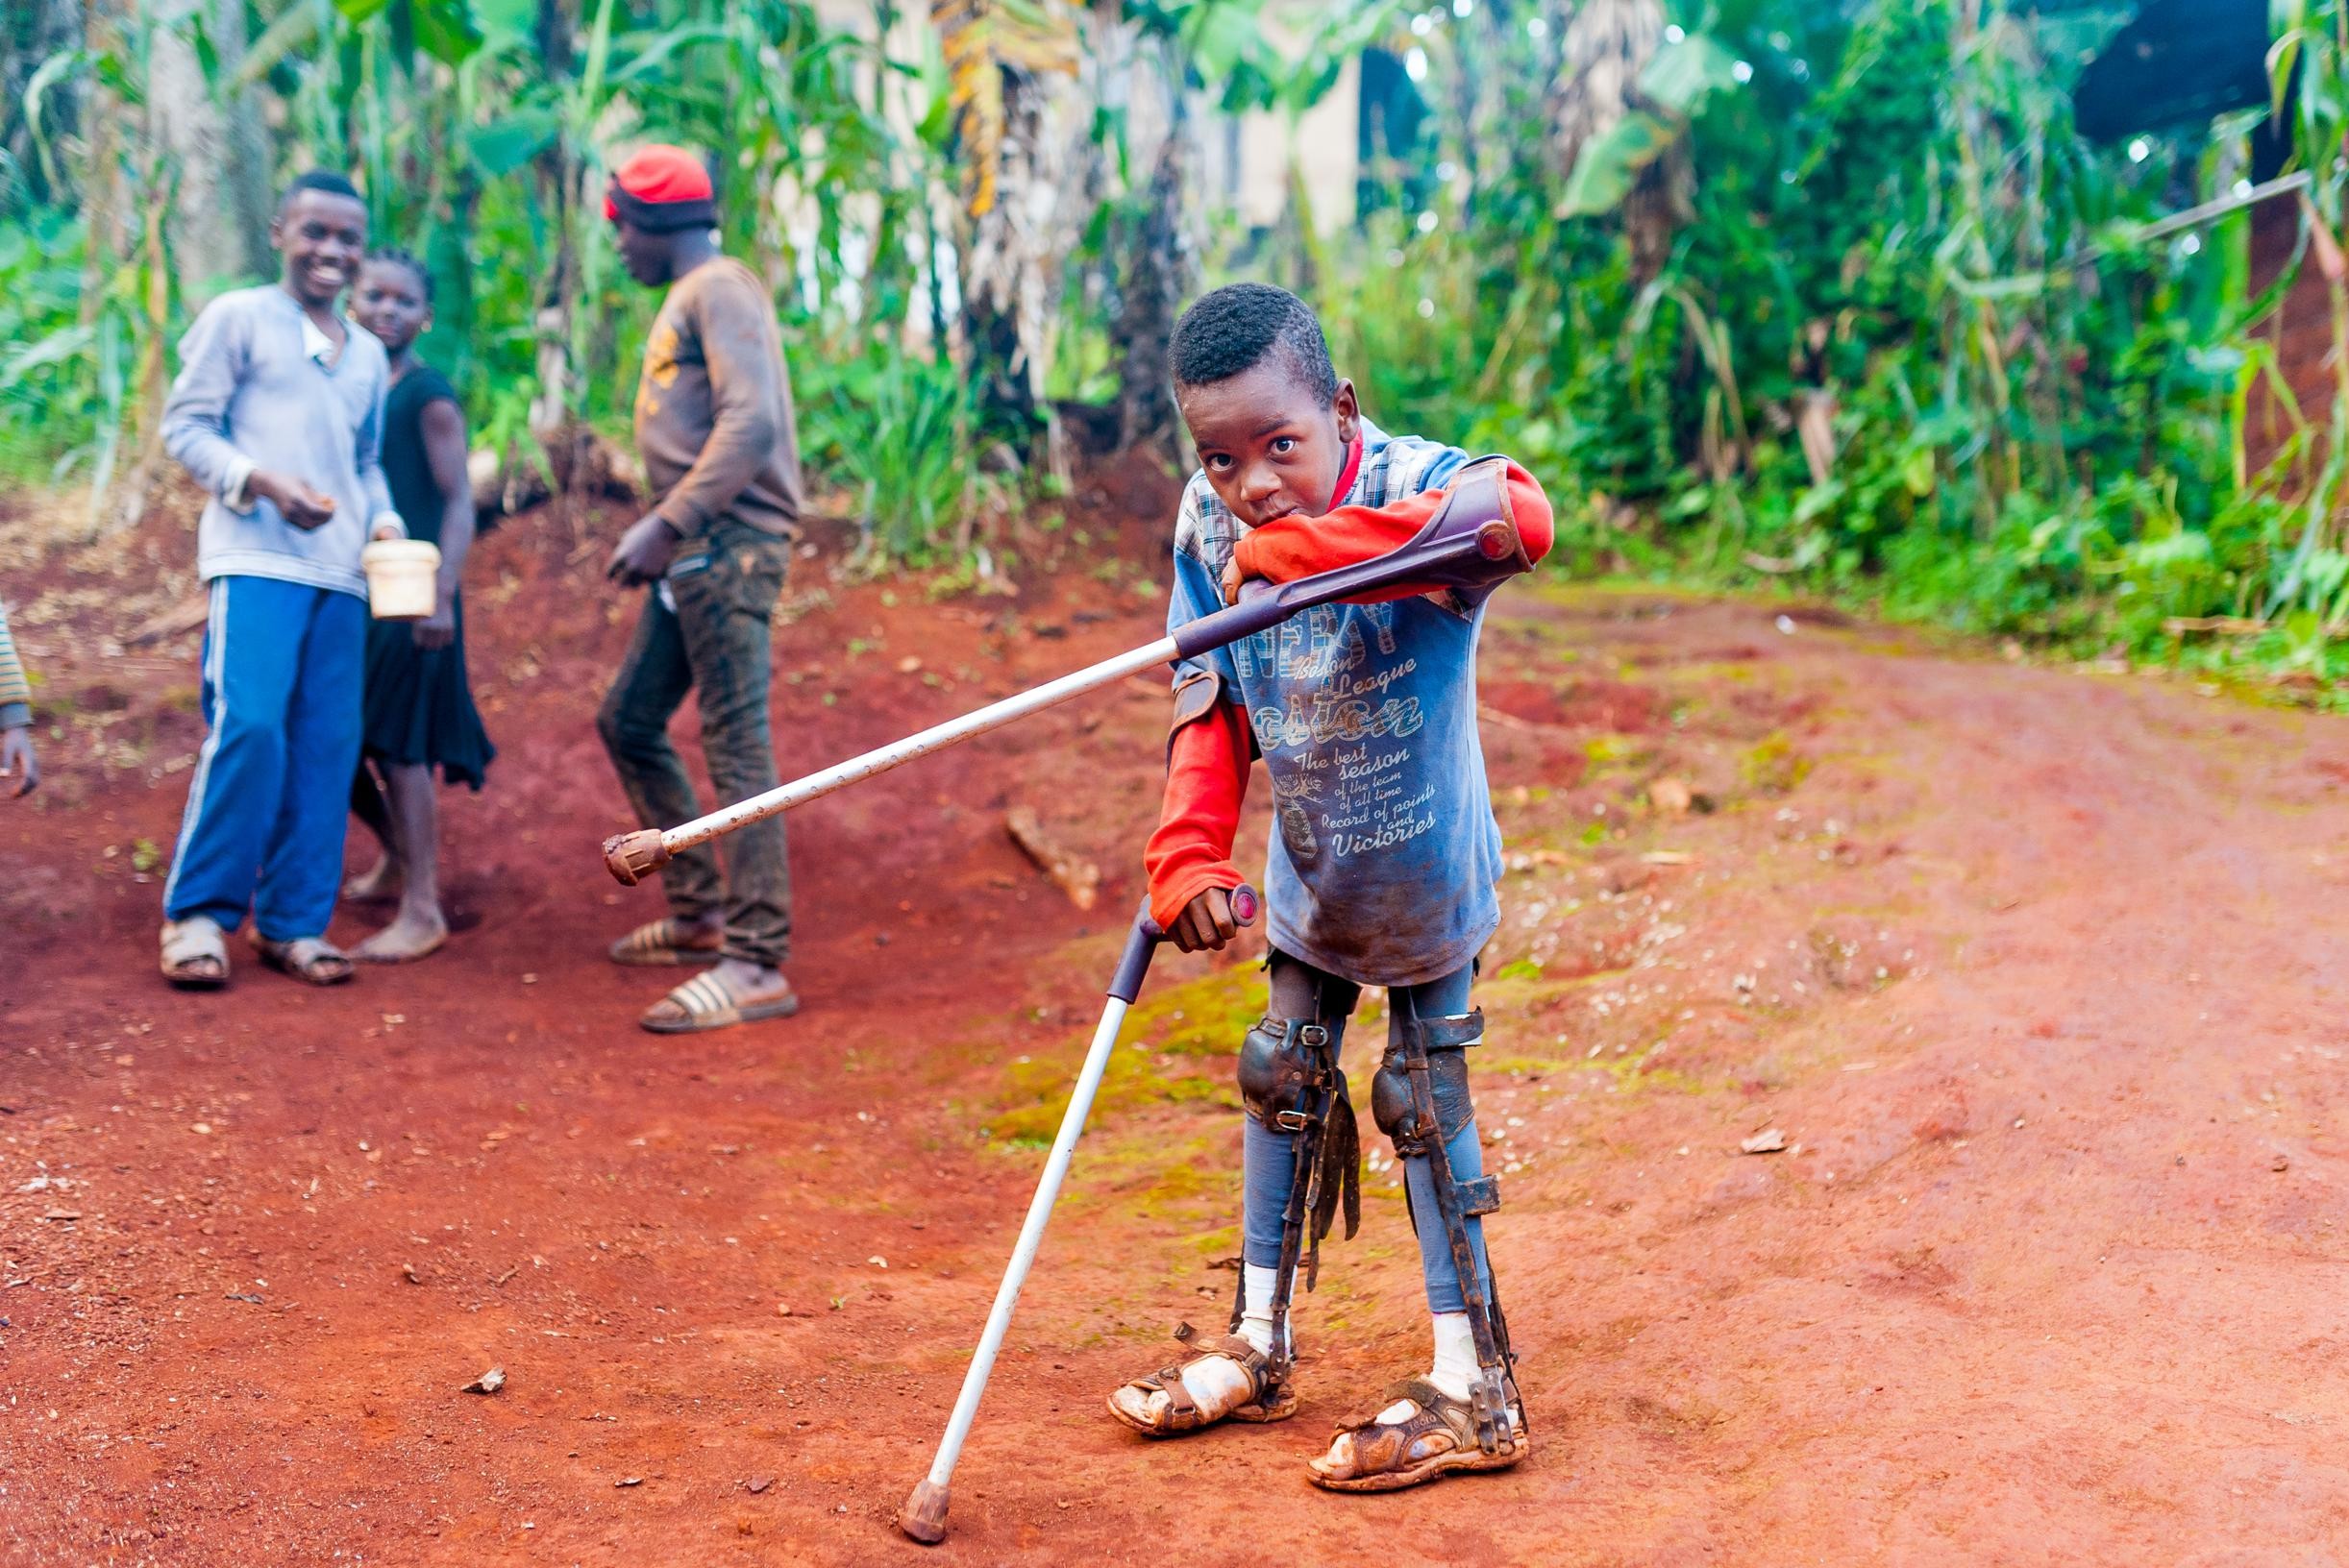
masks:
<svg viewBox="0 0 2349 1568"><path fill-rule="evenodd" d="M280 577L366 596L359 549L399 523L378 458L390 361L343 322L341 357L277 284L223 293L179 343L179 380L162 411L162 444L211 500L195 530L195 570ZM334 359L329 364L329 359ZM319 528L296 528L249 498L254 469L275 469L334 498Z"/></svg>

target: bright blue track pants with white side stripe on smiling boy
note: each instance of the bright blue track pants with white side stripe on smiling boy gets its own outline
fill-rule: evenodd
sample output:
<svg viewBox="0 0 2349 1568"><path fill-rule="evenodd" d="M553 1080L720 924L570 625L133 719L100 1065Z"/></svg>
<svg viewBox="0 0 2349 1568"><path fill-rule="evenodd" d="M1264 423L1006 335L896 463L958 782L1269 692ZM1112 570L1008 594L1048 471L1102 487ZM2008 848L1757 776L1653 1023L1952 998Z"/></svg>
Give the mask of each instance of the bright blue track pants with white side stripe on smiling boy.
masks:
<svg viewBox="0 0 2349 1568"><path fill-rule="evenodd" d="M214 577L204 622L204 749L162 885L167 920L209 915L270 941L324 937L343 883L359 765L366 601Z"/></svg>

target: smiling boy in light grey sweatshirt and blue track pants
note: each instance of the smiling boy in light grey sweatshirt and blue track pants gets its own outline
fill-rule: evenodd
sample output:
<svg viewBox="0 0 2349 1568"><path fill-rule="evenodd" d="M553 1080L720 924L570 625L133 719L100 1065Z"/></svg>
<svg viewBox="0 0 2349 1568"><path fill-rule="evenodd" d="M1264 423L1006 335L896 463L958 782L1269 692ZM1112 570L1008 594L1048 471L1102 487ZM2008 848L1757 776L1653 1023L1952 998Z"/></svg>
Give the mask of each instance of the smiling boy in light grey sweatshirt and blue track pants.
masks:
<svg viewBox="0 0 2349 1568"><path fill-rule="evenodd" d="M216 298L181 340L162 439L211 495L197 523L204 721L164 883L162 972L228 984L223 937L254 915L275 969L331 986L327 944L359 761L366 577L359 549L404 533L378 444L390 369L336 300L366 254L366 204L305 174L270 223L275 284Z"/></svg>

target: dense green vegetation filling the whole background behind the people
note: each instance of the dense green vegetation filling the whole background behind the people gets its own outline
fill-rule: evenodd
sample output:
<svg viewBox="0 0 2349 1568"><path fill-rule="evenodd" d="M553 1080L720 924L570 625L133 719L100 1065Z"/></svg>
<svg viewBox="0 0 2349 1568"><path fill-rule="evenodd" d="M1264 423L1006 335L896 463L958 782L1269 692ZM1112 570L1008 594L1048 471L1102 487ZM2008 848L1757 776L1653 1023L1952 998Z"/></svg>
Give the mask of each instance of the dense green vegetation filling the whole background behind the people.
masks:
<svg viewBox="0 0 2349 1568"><path fill-rule="evenodd" d="M2344 0L2276 7L2309 183L2274 197L2304 207L2302 244L2257 293L2243 209L2161 221L2246 185L2264 108L2119 146L2074 129L2126 5L940 0L855 31L801 0L38 9L0 38L16 479L106 488L148 460L169 343L223 282L204 258L265 261L254 171L157 131L195 73L216 148L258 138L265 183L362 176L378 232L432 263L428 352L477 430L557 479L568 432L625 418L653 305L613 265L604 160L672 138L721 155L810 465L876 561L1017 552L1057 472L1052 397L1163 460L1165 305L1252 275L1318 298L1384 425L1550 481L1586 573L1835 594L2323 702L2349 669L2349 404L2293 404L2257 333L2316 268L2349 345L2349 176L2309 157L2349 124ZM1299 185L1236 232L1200 195L1196 115L1294 115L1351 61L1384 94L1355 230L1322 235ZM202 244L190 188L216 190ZM2246 439L2257 406L2274 455Z"/></svg>

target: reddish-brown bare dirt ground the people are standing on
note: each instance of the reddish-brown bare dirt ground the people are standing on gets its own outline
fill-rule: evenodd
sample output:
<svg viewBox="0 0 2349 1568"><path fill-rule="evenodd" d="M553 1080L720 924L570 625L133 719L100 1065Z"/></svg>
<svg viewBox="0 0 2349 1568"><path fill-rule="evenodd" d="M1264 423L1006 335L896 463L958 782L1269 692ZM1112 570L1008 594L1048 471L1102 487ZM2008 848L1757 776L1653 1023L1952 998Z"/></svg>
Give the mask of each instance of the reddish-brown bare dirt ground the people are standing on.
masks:
<svg viewBox="0 0 2349 1568"><path fill-rule="evenodd" d="M5 1563L921 1556L890 1514L1137 892L1163 699L794 817L806 1014L653 1042L658 976L599 958L653 908L594 857L625 627L545 608L557 552L498 535L486 568L467 930L341 993L150 981L193 660L49 650L73 732L42 810L0 812ZM1064 594L808 601L787 751L1151 629L1123 584L1090 624ZM1423 1354L1391 1171L1304 1310L1297 1422L1144 1446L1099 1415L1231 1284L1257 1002L1245 965L1172 962L937 1559L2349 1552L2349 730L1621 594L1506 596L1485 699L1515 871L1478 1096L1536 1458L1301 1481ZM1656 810L1672 782L1698 810ZM1005 843L1019 803L1102 859L1097 911ZM1741 1155L1764 1127L1790 1148ZM500 1394L458 1392L491 1364Z"/></svg>

